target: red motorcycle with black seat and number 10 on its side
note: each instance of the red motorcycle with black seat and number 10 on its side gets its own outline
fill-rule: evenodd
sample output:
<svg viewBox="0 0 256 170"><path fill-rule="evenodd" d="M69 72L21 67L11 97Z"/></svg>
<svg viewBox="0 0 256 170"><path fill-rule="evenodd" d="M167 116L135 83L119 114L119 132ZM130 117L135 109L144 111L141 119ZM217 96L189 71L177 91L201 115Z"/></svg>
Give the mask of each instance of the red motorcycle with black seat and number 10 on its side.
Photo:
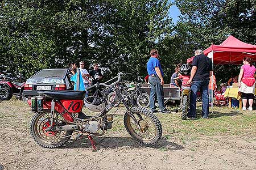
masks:
<svg viewBox="0 0 256 170"><path fill-rule="evenodd" d="M58 148L69 141L73 132L77 132L79 135L76 139L86 135L96 150L92 137L104 135L106 130L112 129L114 113L108 112L117 104L115 100L108 104L108 96L102 94L100 89L112 87L117 99L126 108L123 120L128 133L143 145L154 145L162 136L162 125L152 112L134 107L125 87L120 83L122 75L125 74L115 76L118 80L110 85L97 83L87 88L87 91L96 88L101 95L96 93L96 96L86 97L85 101L86 91L39 91L39 96L27 101L35 112L30 124L32 138L42 147ZM86 116L82 113L84 104L90 111L97 112L96 115Z"/></svg>

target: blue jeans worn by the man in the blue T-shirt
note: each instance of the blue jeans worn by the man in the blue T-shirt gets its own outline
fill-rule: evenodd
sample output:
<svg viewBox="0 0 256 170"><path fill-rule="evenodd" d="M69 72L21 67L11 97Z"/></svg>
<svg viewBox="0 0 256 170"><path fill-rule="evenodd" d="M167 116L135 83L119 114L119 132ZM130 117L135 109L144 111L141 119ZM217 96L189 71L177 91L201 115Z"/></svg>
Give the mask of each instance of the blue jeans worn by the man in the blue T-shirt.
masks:
<svg viewBox="0 0 256 170"><path fill-rule="evenodd" d="M161 111L166 109L164 107L164 92L163 86L160 84L160 78L156 76L150 76L148 83L150 84L150 109L152 112L155 111L155 96L158 99L158 108Z"/></svg>

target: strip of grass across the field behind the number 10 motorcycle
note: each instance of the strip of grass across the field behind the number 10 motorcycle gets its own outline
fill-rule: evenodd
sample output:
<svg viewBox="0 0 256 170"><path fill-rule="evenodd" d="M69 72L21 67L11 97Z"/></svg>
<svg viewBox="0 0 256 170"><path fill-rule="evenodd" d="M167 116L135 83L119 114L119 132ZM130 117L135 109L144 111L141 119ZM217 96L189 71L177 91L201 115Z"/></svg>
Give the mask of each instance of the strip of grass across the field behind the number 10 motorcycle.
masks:
<svg viewBox="0 0 256 170"><path fill-rule="evenodd" d="M83 111L90 115L88 109ZM113 114L115 108L109 112ZM123 115L126 110L120 107L115 113L113 126L107 134L118 134L128 136L125 126L123 125ZM211 136L213 142L218 142L218 138L214 136L230 136L239 135L250 137L248 140L256 141L256 111L240 111L233 108L210 109L209 119L200 118L201 107L197 108L196 120L181 120L181 113L156 114L163 128L163 138L166 140L176 138L184 144L197 141L202 136ZM32 112L30 107L24 101L3 101L0 103L0 121L2 126L11 124L14 127L22 126L27 128ZM15 120L15 121L14 121Z"/></svg>

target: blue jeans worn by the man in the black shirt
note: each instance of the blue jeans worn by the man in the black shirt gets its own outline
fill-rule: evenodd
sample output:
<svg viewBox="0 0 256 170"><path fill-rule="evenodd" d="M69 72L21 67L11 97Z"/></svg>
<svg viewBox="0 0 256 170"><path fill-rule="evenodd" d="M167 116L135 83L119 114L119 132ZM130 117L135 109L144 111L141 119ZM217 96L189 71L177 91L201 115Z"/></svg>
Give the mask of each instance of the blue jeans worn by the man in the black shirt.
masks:
<svg viewBox="0 0 256 170"><path fill-rule="evenodd" d="M191 96L190 96L190 110L188 117L196 117L196 97L197 91L201 91L203 107L202 107L202 117L208 117L209 115L209 99L208 99L208 86L209 80L195 80L191 86Z"/></svg>

